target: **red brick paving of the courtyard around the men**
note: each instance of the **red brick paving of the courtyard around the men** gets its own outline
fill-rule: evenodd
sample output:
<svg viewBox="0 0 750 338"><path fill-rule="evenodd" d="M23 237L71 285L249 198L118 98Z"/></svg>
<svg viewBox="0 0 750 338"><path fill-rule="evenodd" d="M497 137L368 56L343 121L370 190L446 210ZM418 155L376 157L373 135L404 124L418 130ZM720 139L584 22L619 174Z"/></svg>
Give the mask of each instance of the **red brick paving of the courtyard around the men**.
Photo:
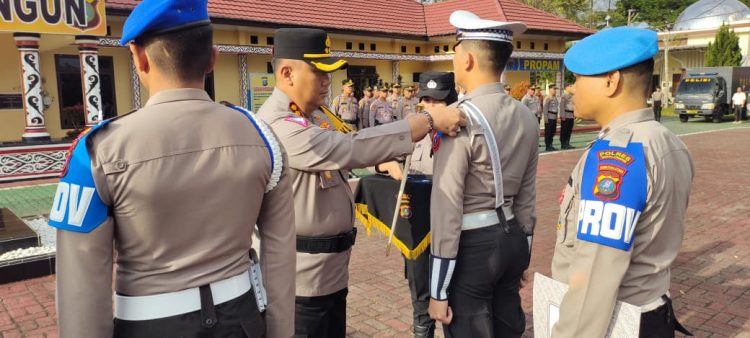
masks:
<svg viewBox="0 0 750 338"><path fill-rule="evenodd" d="M671 294L677 315L696 337L750 338L750 128L673 120L667 124L681 134L714 130L683 137L696 177L682 250L673 266ZM593 135L576 135L574 145L585 144ZM580 155L580 150L558 152L539 160L538 224L529 281L522 290L528 337L533 336L531 277L535 272L549 275L559 192ZM45 213L49 189L54 191L47 186L0 189L0 207L11 207L24 217ZM402 259L396 254L385 257L384 238L364 233L351 261L348 335L409 337L411 304ZM0 285L0 337L54 337L55 320L54 276Z"/></svg>

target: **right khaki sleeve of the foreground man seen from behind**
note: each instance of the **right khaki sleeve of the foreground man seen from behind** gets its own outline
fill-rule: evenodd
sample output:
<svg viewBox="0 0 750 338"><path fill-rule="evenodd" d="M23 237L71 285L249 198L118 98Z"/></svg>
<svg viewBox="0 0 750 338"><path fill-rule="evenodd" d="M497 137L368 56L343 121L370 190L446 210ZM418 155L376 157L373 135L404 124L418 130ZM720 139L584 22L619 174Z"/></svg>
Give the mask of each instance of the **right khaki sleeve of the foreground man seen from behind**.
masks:
<svg viewBox="0 0 750 338"><path fill-rule="evenodd" d="M285 155L286 156L286 155ZM263 285L268 295L266 337L294 335L296 241L294 200L289 168L284 168L276 187L266 193L258 216Z"/></svg>

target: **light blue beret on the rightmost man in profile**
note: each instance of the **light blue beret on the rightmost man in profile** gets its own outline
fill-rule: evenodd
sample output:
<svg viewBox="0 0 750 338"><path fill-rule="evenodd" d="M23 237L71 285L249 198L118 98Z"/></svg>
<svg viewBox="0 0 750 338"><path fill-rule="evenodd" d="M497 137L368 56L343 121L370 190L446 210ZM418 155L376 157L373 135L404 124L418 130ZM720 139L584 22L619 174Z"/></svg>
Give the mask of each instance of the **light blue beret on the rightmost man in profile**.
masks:
<svg viewBox="0 0 750 338"><path fill-rule="evenodd" d="M651 59L659 51L656 32L633 27L599 31L565 53L565 67L578 75L599 75Z"/></svg>

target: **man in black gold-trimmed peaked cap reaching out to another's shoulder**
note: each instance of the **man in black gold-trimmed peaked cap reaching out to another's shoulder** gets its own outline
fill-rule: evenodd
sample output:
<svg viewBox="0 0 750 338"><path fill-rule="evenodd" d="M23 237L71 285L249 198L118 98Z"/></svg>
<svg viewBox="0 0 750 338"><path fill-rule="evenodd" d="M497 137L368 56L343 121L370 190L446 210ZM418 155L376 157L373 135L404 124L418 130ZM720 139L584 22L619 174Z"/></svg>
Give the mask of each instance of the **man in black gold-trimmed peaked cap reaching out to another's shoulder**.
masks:
<svg viewBox="0 0 750 338"><path fill-rule="evenodd" d="M319 29L279 29L274 34L276 89L260 108L289 156L297 227L295 333L344 337L348 263L356 230L353 194L345 170L412 152L434 126L452 133L463 123L444 108L344 134L321 111L330 72L346 61L330 57L330 39ZM288 207L288 206L285 206Z"/></svg>

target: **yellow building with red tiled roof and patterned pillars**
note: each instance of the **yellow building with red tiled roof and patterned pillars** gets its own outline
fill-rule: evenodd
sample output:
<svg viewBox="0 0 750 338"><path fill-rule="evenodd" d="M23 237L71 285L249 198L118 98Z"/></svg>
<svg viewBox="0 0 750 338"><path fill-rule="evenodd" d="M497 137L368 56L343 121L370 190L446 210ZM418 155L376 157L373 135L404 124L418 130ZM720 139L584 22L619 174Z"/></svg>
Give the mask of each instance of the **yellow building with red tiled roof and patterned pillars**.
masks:
<svg viewBox="0 0 750 338"><path fill-rule="evenodd" d="M125 114L148 100L129 50L119 45L125 18L138 1L47 3L54 4L43 8L41 1L0 3L0 180L59 171L66 141L85 126ZM83 19L75 16L81 8L88 10ZM412 0L211 0L220 57L206 79L206 90L216 101L257 109L273 87L273 32L295 26L327 30L332 53L349 61L347 70L333 74L334 96L347 77L355 80L358 90L379 82L416 83L422 72L452 70L455 33L448 16L458 9L529 26L515 41L504 75L510 84L532 82L535 72L560 73L566 43L592 33L514 0L430 5ZM23 149L32 144L49 152L30 159Z"/></svg>

